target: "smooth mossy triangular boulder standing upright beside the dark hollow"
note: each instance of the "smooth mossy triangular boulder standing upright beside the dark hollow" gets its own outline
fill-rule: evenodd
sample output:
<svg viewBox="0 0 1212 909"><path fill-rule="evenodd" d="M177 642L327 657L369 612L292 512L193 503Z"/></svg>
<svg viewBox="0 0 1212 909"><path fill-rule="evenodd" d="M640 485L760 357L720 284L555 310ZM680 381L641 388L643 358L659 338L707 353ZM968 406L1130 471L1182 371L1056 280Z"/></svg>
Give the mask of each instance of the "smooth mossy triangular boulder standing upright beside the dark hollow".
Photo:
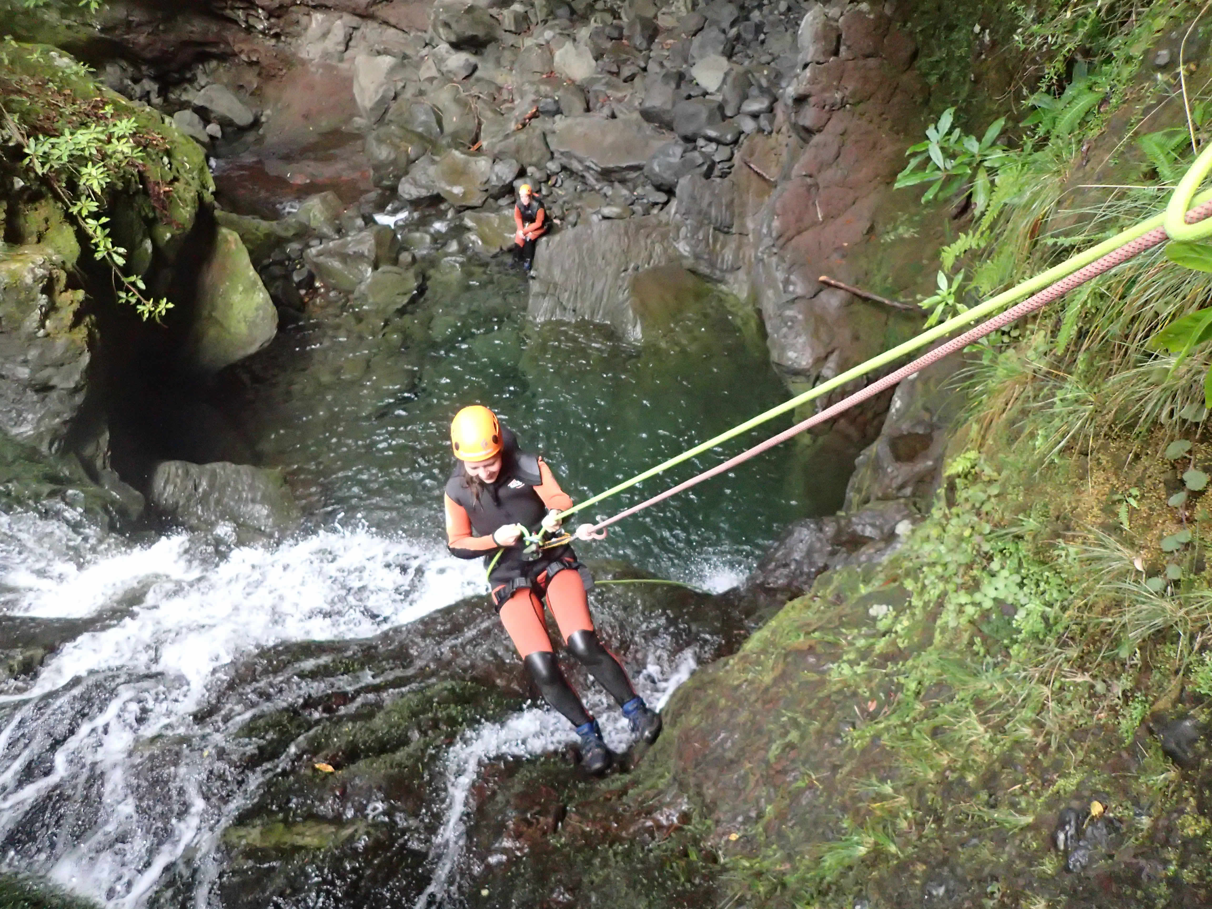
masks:
<svg viewBox="0 0 1212 909"><path fill-rule="evenodd" d="M218 372L257 353L278 333L278 310L261 282L240 235L215 230L215 246L198 275L185 367Z"/></svg>

